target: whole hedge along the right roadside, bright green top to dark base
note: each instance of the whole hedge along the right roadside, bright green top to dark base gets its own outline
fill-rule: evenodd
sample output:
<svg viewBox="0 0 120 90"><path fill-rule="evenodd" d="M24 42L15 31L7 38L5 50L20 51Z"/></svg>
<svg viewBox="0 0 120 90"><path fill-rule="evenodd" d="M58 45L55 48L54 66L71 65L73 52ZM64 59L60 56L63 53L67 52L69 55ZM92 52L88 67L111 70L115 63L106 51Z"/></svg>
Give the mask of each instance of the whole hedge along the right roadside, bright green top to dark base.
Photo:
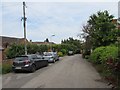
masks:
<svg viewBox="0 0 120 90"><path fill-rule="evenodd" d="M92 61L99 73L115 86L120 86L120 58L119 48L115 45L96 48L90 55L89 61ZM114 80L114 81L112 81ZM118 83L119 82L119 83Z"/></svg>

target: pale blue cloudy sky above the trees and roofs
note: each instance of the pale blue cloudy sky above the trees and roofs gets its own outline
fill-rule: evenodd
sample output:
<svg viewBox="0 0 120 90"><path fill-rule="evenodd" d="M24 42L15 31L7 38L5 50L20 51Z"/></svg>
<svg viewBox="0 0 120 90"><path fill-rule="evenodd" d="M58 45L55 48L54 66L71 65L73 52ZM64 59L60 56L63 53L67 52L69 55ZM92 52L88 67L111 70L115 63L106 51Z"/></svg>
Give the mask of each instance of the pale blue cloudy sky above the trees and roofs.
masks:
<svg viewBox="0 0 120 90"><path fill-rule="evenodd" d="M117 1L117 0L116 0ZM78 38L82 25L97 11L108 10L118 17L118 2L26 2L27 39L60 43L69 37ZM3 36L23 37L22 2L2 2ZM51 37L51 35L55 35ZM79 39L79 38L78 38Z"/></svg>

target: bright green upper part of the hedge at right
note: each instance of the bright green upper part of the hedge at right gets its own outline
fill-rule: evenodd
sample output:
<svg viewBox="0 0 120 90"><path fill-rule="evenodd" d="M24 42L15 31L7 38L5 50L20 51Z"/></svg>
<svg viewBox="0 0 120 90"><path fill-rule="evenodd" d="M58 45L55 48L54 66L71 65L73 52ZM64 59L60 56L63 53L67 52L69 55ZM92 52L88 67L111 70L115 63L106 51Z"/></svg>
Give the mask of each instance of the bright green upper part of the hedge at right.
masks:
<svg viewBox="0 0 120 90"><path fill-rule="evenodd" d="M105 63L106 60L112 58L113 60L117 60L118 57L118 48L116 46L106 46L106 47L98 47L96 48L92 54L90 55L90 60L93 63L101 64Z"/></svg>

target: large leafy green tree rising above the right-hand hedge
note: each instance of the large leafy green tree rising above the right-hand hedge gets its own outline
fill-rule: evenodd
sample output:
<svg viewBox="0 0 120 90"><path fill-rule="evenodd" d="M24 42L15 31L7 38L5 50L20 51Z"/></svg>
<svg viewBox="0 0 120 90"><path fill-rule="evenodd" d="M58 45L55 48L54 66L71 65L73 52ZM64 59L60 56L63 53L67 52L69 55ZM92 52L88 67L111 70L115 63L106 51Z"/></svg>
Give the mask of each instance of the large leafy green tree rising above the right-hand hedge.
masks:
<svg viewBox="0 0 120 90"><path fill-rule="evenodd" d="M114 16L108 11L99 11L90 16L87 25L83 26L83 32L89 36L93 48L107 46L117 40L115 24L112 22Z"/></svg>

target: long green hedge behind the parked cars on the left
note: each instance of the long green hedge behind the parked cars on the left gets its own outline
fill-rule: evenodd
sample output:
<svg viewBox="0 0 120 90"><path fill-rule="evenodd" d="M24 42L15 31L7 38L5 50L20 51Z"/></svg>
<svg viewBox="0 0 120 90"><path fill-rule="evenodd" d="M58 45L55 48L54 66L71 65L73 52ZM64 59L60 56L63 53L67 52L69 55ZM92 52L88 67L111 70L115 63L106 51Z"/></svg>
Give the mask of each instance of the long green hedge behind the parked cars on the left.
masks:
<svg viewBox="0 0 120 90"><path fill-rule="evenodd" d="M37 45L28 43L27 51L28 54L35 54L39 52L42 54L43 52L49 51L52 48L54 51L62 52L63 55L68 54L68 51L76 51L77 47L70 44L54 44L54 45ZM8 59L15 58L19 55L24 55L24 44L12 44L9 48L5 50L6 56Z"/></svg>

